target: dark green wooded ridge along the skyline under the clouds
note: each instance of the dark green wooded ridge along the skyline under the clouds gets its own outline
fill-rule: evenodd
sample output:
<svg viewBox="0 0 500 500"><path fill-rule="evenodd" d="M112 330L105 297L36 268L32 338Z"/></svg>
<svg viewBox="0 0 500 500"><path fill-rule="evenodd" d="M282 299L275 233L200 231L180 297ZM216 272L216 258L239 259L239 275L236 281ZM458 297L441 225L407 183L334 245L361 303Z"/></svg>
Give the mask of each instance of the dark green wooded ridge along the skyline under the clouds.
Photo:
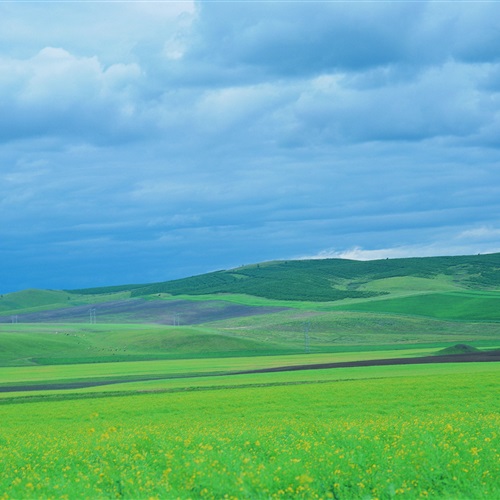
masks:
<svg viewBox="0 0 500 500"><path fill-rule="evenodd" d="M366 299L387 292L367 290L376 280L436 279L444 276L462 289L500 288L500 253L355 261L347 259L273 261L189 278L142 285L67 290L74 294L128 291L131 297L154 294L247 294L275 300L336 301Z"/></svg>

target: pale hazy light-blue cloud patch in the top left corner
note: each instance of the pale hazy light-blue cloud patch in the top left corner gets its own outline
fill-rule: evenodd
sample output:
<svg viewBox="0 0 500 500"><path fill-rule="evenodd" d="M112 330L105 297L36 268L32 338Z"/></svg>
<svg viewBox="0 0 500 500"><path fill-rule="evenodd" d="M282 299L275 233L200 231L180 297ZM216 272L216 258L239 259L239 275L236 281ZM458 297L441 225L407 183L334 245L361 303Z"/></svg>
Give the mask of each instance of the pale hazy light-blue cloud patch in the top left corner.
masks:
<svg viewBox="0 0 500 500"><path fill-rule="evenodd" d="M22 59L43 47L62 47L79 57L99 54L106 66L137 62L140 48L155 51L168 37L184 32L195 15L194 2L3 2L0 53ZM136 52L139 50L139 53Z"/></svg>

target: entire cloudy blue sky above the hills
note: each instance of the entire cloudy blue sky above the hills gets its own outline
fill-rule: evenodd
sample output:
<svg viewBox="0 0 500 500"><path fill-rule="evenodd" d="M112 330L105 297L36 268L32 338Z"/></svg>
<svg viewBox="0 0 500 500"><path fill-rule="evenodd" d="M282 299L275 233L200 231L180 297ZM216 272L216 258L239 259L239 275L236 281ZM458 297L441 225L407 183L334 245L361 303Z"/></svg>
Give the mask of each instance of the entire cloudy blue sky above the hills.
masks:
<svg viewBox="0 0 500 500"><path fill-rule="evenodd" d="M0 1L0 292L500 251L500 3Z"/></svg>

